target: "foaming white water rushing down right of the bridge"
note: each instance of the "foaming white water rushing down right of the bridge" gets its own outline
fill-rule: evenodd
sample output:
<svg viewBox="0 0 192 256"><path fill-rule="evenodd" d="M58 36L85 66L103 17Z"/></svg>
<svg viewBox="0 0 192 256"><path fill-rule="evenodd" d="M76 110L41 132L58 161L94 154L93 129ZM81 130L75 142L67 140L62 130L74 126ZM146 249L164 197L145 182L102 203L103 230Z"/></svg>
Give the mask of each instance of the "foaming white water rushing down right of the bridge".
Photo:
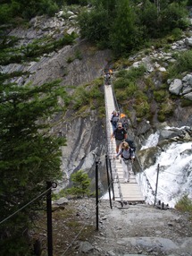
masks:
<svg viewBox="0 0 192 256"><path fill-rule="evenodd" d="M141 149L156 146L158 136L158 133L150 135ZM156 158L154 166L150 166L143 173L137 175L137 181L141 186L146 203L154 203L152 189L155 192L156 183L158 184L156 201L160 200L165 204L169 204L170 207L174 207L177 201L185 194L192 199L192 154L188 154L187 150L191 148L192 141L172 142L169 148ZM158 165L159 175L157 182ZM152 189L150 189L150 186Z"/></svg>

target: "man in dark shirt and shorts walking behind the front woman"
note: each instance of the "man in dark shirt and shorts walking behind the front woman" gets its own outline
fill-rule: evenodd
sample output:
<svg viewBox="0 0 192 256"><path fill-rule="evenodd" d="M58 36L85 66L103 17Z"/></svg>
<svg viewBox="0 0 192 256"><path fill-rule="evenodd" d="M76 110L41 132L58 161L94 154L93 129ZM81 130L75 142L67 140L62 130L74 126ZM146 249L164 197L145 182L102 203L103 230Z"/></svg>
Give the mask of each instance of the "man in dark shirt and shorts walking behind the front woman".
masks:
<svg viewBox="0 0 192 256"><path fill-rule="evenodd" d="M113 131L111 135L111 140L115 138L116 142L116 153L119 153L121 142L126 140L128 137L128 133L125 131L125 129L122 127L121 123L117 124L117 128Z"/></svg>

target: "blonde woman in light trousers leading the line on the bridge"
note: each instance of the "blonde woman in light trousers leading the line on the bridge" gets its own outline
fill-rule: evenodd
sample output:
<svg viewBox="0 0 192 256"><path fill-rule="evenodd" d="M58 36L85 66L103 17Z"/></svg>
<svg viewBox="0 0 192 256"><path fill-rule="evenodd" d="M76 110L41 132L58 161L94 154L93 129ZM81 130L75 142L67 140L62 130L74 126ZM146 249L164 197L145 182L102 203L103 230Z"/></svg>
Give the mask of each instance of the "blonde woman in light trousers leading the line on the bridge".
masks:
<svg viewBox="0 0 192 256"><path fill-rule="evenodd" d="M132 162L135 159L135 152L129 147L128 142L123 141L121 143L121 150L115 158L118 158L119 156L121 156L124 183L129 183L129 176L132 170Z"/></svg>

